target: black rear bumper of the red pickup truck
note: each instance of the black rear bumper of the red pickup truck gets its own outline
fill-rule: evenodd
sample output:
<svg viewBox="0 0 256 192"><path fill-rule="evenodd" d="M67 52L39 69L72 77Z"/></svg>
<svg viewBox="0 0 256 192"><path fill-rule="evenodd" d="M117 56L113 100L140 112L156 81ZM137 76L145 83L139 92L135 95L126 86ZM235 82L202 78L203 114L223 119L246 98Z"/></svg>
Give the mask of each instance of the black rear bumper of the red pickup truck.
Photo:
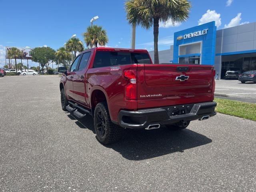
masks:
<svg viewBox="0 0 256 192"><path fill-rule="evenodd" d="M150 108L138 111L121 110L118 113L118 124L126 128L147 128L152 124L175 124L180 121L192 121L203 116L214 116L216 102L185 104Z"/></svg>

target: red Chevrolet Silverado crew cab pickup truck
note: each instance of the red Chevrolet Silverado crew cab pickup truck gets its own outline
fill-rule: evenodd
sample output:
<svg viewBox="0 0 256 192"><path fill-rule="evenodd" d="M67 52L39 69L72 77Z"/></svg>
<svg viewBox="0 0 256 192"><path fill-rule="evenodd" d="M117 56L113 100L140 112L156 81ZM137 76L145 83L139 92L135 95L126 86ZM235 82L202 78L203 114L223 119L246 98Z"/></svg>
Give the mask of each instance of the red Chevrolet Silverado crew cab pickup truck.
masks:
<svg viewBox="0 0 256 192"><path fill-rule="evenodd" d="M146 50L102 47L58 71L62 109L93 116L103 144L118 140L124 128L179 130L216 114L210 65L152 64Z"/></svg>

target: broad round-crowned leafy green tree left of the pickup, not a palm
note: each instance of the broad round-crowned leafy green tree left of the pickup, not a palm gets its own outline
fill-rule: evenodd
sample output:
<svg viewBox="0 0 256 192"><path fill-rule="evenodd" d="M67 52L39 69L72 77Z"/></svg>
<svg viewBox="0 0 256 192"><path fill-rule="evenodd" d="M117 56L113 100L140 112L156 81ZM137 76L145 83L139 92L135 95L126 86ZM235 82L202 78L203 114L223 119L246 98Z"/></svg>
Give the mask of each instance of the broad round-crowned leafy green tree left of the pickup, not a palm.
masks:
<svg viewBox="0 0 256 192"><path fill-rule="evenodd" d="M42 67L44 73L44 67L48 73L50 63L55 60L55 50L50 47L36 47L30 51L32 61L38 62Z"/></svg>

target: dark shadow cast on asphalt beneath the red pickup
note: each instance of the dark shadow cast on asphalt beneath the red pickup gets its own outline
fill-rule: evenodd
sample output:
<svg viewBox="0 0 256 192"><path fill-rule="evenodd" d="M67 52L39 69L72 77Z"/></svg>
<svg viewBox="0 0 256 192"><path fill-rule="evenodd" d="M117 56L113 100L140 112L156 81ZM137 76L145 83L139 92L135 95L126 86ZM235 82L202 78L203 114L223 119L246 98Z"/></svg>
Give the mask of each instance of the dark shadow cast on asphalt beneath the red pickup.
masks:
<svg viewBox="0 0 256 192"><path fill-rule="evenodd" d="M68 115L70 118L74 118ZM74 118L75 119L75 118ZM76 121L80 128L88 128L94 132L93 119L87 116ZM120 153L128 160L146 160L174 152L211 143L206 136L190 129L172 131L165 126L155 130L124 130L123 138L114 144L106 145Z"/></svg>

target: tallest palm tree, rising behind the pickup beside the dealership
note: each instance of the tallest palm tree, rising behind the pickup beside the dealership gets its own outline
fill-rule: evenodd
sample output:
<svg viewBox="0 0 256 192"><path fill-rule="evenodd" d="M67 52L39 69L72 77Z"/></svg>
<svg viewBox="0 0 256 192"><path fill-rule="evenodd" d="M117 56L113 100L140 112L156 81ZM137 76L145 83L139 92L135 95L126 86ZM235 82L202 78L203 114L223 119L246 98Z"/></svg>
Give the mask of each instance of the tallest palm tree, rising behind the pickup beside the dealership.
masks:
<svg viewBox="0 0 256 192"><path fill-rule="evenodd" d="M188 19L191 4L188 0L128 0L125 3L126 17L131 25L154 28L154 62L158 58L159 22L184 22Z"/></svg>

